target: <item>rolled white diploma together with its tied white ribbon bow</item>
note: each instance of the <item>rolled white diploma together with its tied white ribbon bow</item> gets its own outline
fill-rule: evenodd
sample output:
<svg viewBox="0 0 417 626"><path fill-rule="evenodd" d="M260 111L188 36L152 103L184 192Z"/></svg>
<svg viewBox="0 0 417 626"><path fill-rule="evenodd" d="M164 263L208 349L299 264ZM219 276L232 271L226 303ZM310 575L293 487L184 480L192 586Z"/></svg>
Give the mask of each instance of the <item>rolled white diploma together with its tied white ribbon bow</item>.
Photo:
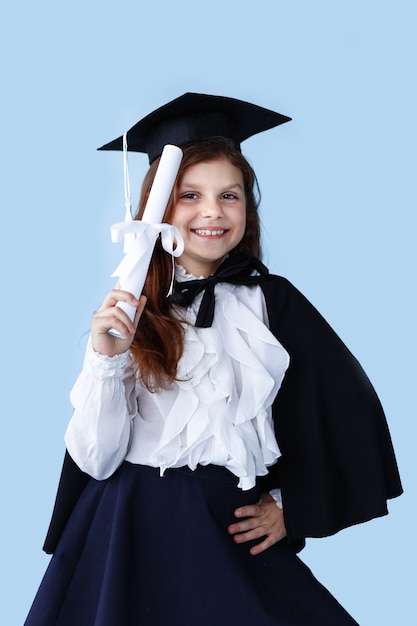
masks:
<svg viewBox="0 0 417 626"><path fill-rule="evenodd" d="M125 239L125 255L112 276L118 276L120 289L129 291L135 298L139 298L142 293L159 235L161 235L164 250L173 257L180 256L184 251L184 242L175 226L161 223L181 159L180 148L166 145L161 154L142 220L118 222L111 227L113 242L117 243ZM118 302L117 306L120 306L133 321L136 313L135 307L126 302ZM109 332L120 337L114 329Z"/></svg>

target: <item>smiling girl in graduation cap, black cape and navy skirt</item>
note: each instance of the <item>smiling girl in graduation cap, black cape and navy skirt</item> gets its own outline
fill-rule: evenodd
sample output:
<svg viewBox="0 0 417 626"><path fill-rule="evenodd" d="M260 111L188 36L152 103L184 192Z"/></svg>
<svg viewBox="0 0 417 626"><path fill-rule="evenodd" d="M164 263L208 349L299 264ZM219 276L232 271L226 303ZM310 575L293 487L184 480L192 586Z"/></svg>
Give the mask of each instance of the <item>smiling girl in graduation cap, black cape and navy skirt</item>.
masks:
<svg viewBox="0 0 417 626"><path fill-rule="evenodd" d="M161 147L183 148L164 221L184 252L172 298L158 243L139 300L112 289L94 316L27 626L356 624L296 553L401 485L359 364L258 260L239 143L287 119L186 94L129 131L152 161L138 218Z"/></svg>

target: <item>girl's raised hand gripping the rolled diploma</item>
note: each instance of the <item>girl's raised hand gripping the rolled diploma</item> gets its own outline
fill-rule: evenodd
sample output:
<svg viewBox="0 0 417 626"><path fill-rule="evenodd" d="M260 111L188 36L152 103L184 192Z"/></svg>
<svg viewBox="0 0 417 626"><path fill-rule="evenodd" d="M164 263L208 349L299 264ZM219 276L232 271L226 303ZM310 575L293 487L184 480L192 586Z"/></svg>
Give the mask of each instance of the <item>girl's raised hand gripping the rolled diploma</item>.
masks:
<svg viewBox="0 0 417 626"><path fill-rule="evenodd" d="M120 307L116 306L118 302L127 302L137 307L133 322ZM140 296L137 300L127 291L112 289L96 311L91 324L91 343L95 352L111 357L129 350L145 304L145 296ZM112 328L117 330L122 338L110 335L109 330Z"/></svg>

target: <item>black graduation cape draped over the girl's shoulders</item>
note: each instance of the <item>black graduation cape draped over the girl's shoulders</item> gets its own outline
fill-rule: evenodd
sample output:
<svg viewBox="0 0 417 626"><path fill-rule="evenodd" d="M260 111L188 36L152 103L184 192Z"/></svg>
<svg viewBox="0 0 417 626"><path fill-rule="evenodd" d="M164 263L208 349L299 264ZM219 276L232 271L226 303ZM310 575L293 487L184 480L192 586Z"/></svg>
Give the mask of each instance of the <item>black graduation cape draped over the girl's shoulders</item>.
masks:
<svg viewBox="0 0 417 626"><path fill-rule="evenodd" d="M288 540L300 550L306 537L387 514L402 487L383 409L358 361L290 282L270 274L256 282L291 359L273 405L282 456L260 481L265 491L281 487ZM89 480L66 453L45 552L54 552Z"/></svg>

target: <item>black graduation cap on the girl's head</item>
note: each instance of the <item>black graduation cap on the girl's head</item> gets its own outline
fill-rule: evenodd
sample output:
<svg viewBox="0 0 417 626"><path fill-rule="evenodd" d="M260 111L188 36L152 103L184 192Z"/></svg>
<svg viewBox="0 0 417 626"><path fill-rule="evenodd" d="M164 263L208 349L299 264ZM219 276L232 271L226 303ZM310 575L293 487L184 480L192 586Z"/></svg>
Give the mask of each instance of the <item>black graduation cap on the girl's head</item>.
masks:
<svg viewBox="0 0 417 626"><path fill-rule="evenodd" d="M152 163L166 144L184 146L210 137L227 137L237 147L252 135L291 118L235 98L185 93L156 109L127 132L127 149L145 152ZM123 136L99 150L123 150Z"/></svg>

